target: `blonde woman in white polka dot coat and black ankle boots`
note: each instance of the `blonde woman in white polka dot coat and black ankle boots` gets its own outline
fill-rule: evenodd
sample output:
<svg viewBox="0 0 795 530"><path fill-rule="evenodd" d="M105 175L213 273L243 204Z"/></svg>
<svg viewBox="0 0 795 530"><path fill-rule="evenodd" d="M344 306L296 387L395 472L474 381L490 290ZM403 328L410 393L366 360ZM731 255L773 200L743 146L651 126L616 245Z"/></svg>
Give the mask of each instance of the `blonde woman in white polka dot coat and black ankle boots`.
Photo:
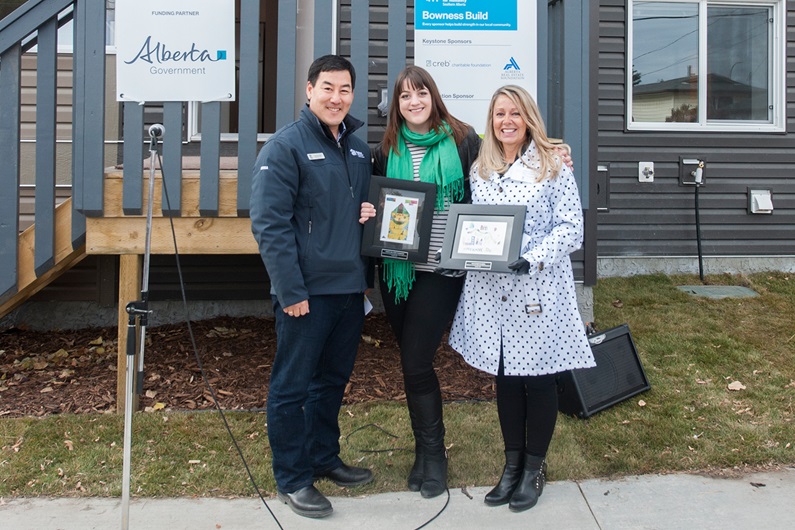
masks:
<svg viewBox="0 0 795 530"><path fill-rule="evenodd" d="M506 463L485 502L524 511L545 483L556 374L595 363L569 258L583 237L577 184L523 88L505 86L492 97L470 186L475 204L527 208L514 272L468 272L450 332L451 346L470 365L497 376Z"/></svg>

